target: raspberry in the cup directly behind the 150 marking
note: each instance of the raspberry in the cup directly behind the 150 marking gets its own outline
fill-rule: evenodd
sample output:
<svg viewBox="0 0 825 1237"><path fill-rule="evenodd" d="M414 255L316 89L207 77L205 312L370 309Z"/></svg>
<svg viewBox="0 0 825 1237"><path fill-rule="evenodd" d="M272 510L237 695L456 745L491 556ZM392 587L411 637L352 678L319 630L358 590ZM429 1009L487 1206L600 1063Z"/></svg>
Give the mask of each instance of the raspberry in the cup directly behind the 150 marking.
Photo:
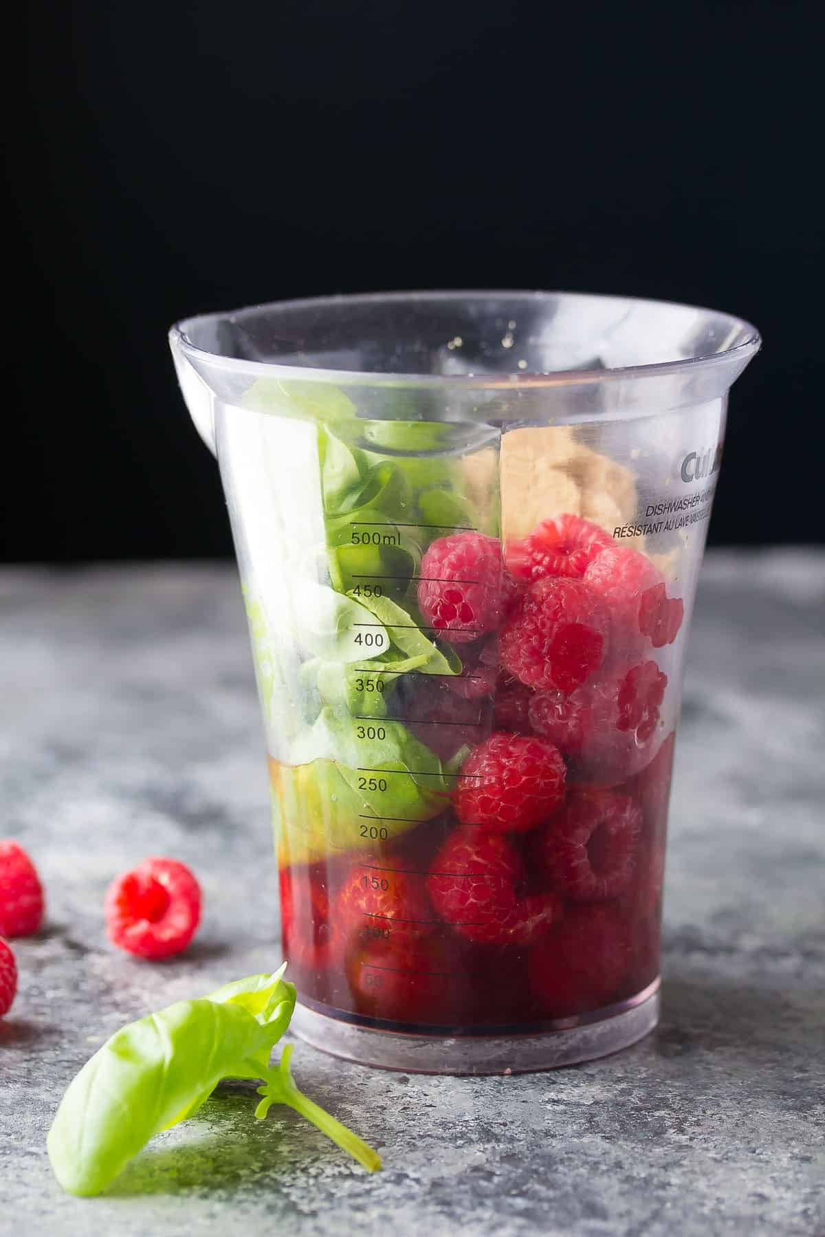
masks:
<svg viewBox="0 0 825 1237"><path fill-rule="evenodd" d="M335 930L346 946L386 940L393 945L429 936L438 927L423 873L407 871L388 854L353 860L335 903Z"/></svg>

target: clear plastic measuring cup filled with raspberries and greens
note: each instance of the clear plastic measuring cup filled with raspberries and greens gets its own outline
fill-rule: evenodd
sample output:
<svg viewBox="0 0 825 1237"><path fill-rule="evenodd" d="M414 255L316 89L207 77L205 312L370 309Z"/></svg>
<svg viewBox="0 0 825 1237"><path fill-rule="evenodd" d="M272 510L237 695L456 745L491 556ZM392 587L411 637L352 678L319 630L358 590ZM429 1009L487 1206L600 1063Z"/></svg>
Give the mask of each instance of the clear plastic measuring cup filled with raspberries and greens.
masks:
<svg viewBox="0 0 825 1237"><path fill-rule="evenodd" d="M533 1070L657 1023L726 314L397 293L192 318L270 757L296 1032Z"/></svg>

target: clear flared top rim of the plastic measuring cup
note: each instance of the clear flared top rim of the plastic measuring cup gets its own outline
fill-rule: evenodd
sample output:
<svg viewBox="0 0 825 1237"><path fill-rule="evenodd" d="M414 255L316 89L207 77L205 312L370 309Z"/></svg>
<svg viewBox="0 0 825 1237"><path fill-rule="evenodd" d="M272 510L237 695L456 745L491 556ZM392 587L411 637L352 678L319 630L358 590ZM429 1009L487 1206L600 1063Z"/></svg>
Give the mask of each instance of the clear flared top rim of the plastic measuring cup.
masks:
<svg viewBox="0 0 825 1237"><path fill-rule="evenodd" d="M215 322L224 319L231 322L240 314L256 310L278 309L288 313L291 309L330 309L334 307L364 306L364 304L398 304L416 301L494 301L502 298L523 298L537 302L545 298L564 297L583 302L617 302L622 304L643 304L657 308L689 309L694 313L707 314L709 319L726 324L731 336L736 338L745 332L745 339L738 340L730 348L720 351L699 354L696 356L679 357L672 361L652 361L637 365L615 366L611 369L579 369L579 370L552 370L547 372L517 371L513 374L406 374L391 372L386 370L338 370L318 365L293 365L281 361L255 361L245 357L224 356L220 353L209 351L193 343L190 338L192 328L198 323ZM229 312L214 312L193 314L182 318L169 329L169 343L173 349L179 349L193 360L205 362L212 367L224 372L272 376L273 371L278 377L293 381L322 381L334 382L336 386L404 386L404 387L451 387L466 391L471 390L549 390L564 386L583 386L588 383L604 383L627 381L648 377L665 377L690 371L691 374L722 365L737 364L741 367L758 353L762 346L762 336L756 327L745 318L735 314L722 313L716 309L707 309L704 306L693 306L680 301L659 301L648 297L626 297L590 292L564 292L564 291L531 291L531 289L442 289L442 291L407 291L407 292L362 292L334 294L325 297L298 297L287 301L267 301L254 306L244 306L240 309Z"/></svg>

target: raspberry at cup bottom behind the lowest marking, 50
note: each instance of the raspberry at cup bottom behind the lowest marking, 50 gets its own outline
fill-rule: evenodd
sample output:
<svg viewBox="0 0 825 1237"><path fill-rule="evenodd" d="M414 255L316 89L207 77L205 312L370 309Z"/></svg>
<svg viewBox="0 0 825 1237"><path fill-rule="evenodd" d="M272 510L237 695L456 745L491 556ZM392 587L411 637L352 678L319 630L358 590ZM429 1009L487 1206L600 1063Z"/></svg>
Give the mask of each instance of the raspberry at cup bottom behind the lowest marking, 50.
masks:
<svg viewBox="0 0 825 1237"><path fill-rule="evenodd" d="M349 998L369 1017L456 1025L472 1016L472 985L461 951L438 938L360 943L345 970Z"/></svg>

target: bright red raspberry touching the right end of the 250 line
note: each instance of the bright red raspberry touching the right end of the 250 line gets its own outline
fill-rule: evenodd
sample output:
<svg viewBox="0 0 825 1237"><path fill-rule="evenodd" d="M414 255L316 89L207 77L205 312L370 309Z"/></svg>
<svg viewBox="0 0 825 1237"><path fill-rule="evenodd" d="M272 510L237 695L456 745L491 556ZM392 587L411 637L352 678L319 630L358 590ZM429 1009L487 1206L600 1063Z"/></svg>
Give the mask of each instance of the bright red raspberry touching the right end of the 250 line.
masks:
<svg viewBox="0 0 825 1237"><path fill-rule="evenodd" d="M545 738L495 731L461 766L455 811L465 825L532 829L564 798L562 753Z"/></svg>

